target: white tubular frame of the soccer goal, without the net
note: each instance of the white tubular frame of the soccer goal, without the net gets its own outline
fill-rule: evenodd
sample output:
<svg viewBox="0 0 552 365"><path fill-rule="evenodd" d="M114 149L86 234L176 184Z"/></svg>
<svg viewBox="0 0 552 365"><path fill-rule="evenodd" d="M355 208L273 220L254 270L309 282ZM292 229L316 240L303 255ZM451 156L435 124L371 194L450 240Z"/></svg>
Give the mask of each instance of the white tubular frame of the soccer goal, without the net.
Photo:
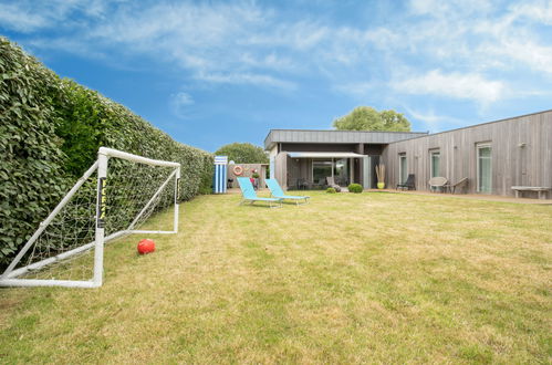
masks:
<svg viewBox="0 0 552 365"><path fill-rule="evenodd" d="M131 225L126 229L118 230L105 237L105 228L103 225L103 215L105 215L105 196L104 196L104 180L107 178L107 165L110 158L119 158L131 163L148 165L153 167L168 167L174 168L174 170L168 175L155 194L149 198L147 204L142 208L139 213L134 218ZM22 258L29 252L29 250L37 242L39 237L44 232L49 225L58 217L60 211L70 202L73 196L79 191L85 181L87 181L93 174L97 175L97 189L96 189L96 209L95 209L95 237L94 240L82 244L75 249L52 255L50 258L33 262L31 264L24 265L22 268L15 269L15 267L21 262ZM103 282L103 248L104 244L111 240L118 237L129 234L129 233L152 233L152 234L166 234L166 233L177 233L178 232L178 182L180 179L180 164L165 160L157 160L152 158L146 158L138 155L128 154L122 150L101 147L97 153L97 160L84 173L84 175L75 182L75 185L69 190L69 192L63 197L63 199L58 204L58 206L50 212L44 221L39 225L37 231L27 241L23 248L15 255L13 261L8 265L6 271L0 275L0 286L74 286L74 288L97 288L102 285ZM156 200L167 185L174 180L174 221L173 230L137 230L134 229L136 223L145 216L153 206L155 206ZM86 252L94 249L94 274L91 280L55 280L55 279L19 279L30 272L39 271L42 268L66 260L71 257L77 255L82 252Z"/></svg>

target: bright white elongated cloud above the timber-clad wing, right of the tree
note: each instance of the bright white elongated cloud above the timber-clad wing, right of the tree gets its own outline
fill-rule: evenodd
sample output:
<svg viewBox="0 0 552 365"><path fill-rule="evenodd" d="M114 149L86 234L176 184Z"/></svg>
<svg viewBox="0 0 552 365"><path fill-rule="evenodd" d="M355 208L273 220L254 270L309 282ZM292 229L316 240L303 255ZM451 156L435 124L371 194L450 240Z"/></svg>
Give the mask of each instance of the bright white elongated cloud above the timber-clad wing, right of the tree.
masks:
<svg viewBox="0 0 552 365"><path fill-rule="evenodd" d="M480 103L501 100L507 88L503 82L486 80L479 74L445 74L440 70L393 82L390 86L407 94L467 98Z"/></svg>

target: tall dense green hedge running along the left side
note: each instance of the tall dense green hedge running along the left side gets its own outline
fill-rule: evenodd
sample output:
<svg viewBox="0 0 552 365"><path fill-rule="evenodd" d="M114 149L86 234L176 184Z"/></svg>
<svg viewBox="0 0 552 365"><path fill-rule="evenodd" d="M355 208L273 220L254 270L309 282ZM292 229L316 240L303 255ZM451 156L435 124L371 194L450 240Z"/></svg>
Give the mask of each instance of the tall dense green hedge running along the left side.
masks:
<svg viewBox="0 0 552 365"><path fill-rule="evenodd" d="M61 80L2 36L0 121L0 269L92 165L100 146L180 163L180 200L208 191L211 184L211 154Z"/></svg>

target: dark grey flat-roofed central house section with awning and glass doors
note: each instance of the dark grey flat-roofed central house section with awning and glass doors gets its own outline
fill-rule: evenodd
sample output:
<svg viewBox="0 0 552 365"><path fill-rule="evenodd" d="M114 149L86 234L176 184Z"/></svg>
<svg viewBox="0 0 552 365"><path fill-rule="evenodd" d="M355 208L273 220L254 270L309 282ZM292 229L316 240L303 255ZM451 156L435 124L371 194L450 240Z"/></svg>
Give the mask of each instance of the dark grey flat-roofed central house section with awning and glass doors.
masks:
<svg viewBox="0 0 552 365"><path fill-rule="evenodd" d="M427 133L272 129L264 148L270 153L271 177L288 188L299 188L303 181L321 187L330 176L342 186L357 182L372 188L373 167L385 146L424 135ZM316 156L323 153L323 157Z"/></svg>

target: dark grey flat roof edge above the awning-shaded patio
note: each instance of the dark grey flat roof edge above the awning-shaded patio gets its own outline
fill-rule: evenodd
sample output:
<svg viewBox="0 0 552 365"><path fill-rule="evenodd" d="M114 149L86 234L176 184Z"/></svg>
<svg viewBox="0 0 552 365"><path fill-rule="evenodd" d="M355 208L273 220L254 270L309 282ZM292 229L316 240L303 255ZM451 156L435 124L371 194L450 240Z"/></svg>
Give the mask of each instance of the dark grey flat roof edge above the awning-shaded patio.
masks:
<svg viewBox="0 0 552 365"><path fill-rule="evenodd" d="M264 149L277 143L313 144L389 144L427 135L428 132L374 132L336 129L270 129L264 138Z"/></svg>

